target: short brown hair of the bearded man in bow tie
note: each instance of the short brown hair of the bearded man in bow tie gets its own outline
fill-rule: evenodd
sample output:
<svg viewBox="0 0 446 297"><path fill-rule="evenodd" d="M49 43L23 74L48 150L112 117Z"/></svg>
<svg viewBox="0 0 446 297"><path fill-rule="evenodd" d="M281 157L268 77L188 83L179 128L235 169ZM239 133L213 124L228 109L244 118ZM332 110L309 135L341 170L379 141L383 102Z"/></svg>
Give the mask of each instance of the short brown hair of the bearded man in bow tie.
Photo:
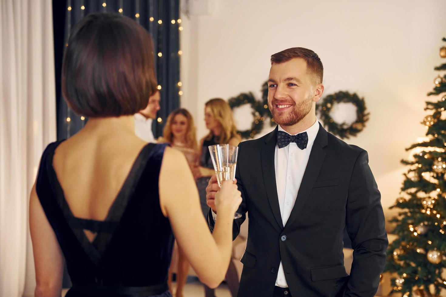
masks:
<svg viewBox="0 0 446 297"><path fill-rule="evenodd" d="M324 66L322 66L321 59L317 53L314 53L311 49L305 48L290 48L285 49L279 53L275 53L271 56L271 65L288 62L294 58L302 58L306 61L307 72L312 74L314 82L316 84L322 83L324 77Z"/></svg>

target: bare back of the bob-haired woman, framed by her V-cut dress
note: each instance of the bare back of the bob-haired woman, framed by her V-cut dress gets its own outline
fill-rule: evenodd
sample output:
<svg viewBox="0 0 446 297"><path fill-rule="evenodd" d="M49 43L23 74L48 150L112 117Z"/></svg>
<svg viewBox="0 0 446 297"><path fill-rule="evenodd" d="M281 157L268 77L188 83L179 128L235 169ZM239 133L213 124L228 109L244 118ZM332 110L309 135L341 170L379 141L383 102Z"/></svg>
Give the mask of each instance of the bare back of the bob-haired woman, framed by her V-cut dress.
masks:
<svg viewBox="0 0 446 297"><path fill-rule="evenodd" d="M53 167L75 217L103 221L147 143L135 137L90 137L82 131L56 149ZM89 240L94 234L85 231Z"/></svg>

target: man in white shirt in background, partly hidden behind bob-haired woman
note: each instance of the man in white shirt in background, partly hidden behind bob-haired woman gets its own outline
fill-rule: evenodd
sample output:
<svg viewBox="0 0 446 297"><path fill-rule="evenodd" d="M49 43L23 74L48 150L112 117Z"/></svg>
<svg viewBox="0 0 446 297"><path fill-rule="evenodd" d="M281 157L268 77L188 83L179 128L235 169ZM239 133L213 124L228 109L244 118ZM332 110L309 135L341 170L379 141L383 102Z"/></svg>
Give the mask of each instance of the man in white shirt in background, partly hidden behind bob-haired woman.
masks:
<svg viewBox="0 0 446 297"><path fill-rule="evenodd" d="M149 97L147 107L135 114L135 134L146 142L156 142L153 137L152 122L161 108L160 99L160 91L157 90Z"/></svg>

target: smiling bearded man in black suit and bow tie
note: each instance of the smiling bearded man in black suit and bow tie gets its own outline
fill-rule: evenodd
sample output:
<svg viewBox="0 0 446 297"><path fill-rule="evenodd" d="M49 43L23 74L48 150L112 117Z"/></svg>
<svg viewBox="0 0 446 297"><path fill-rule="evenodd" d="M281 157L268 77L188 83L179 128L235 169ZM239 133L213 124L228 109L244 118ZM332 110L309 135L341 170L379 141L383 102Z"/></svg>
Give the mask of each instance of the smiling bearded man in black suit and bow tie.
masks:
<svg viewBox="0 0 446 297"><path fill-rule="evenodd" d="M238 296L372 297L384 269L387 234L367 152L318 123L323 67L304 48L271 56L268 106L276 129L241 142L235 178L243 202L233 237L249 213ZM212 230L215 177L206 189ZM343 234L352 241L350 276Z"/></svg>

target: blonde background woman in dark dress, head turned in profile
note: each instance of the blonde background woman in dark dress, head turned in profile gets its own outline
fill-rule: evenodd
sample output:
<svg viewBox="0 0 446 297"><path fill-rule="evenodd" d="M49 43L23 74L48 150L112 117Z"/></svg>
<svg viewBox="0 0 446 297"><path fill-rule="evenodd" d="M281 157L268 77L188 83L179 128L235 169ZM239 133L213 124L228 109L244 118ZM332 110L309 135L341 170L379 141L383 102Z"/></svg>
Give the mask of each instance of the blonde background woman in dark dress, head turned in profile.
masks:
<svg viewBox="0 0 446 297"><path fill-rule="evenodd" d="M212 175L215 175L208 146L229 143L238 146L241 138L237 134L232 110L229 104L220 98L214 98L206 102L204 108L204 120L209 133L200 142L201 156L198 170L194 176L197 177L197 188L200 195L200 203L203 216L206 218L209 206L206 204L206 187ZM239 278L232 261L226 273L226 281L232 296L237 296L239 289ZM214 297L214 290L205 285L206 297Z"/></svg>

